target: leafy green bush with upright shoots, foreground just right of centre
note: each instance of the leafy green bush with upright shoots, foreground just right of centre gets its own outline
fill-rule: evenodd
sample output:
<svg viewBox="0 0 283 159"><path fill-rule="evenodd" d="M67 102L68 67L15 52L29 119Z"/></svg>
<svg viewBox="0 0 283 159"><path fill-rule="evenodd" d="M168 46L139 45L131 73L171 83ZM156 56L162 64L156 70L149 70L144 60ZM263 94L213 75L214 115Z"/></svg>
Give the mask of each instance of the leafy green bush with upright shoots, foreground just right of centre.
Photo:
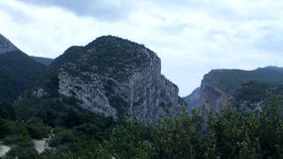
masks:
<svg viewBox="0 0 283 159"><path fill-rule="evenodd" d="M203 158L206 141L202 125L194 111L192 117L183 111L180 118L165 118L154 133L155 158Z"/></svg>

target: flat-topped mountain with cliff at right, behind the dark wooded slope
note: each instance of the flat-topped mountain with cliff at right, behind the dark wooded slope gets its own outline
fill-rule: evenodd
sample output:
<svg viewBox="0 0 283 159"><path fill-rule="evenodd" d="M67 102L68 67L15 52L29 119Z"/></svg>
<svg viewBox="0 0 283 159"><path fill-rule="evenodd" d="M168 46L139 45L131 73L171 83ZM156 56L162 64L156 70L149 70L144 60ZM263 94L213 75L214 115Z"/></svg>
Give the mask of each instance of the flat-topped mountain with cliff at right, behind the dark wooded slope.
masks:
<svg viewBox="0 0 283 159"><path fill-rule="evenodd" d="M258 68L254 71L212 70L204 75L200 88L197 110L218 112L233 98L242 84L257 81L265 84L283 84L283 69L279 67ZM187 103L192 107L192 103Z"/></svg>

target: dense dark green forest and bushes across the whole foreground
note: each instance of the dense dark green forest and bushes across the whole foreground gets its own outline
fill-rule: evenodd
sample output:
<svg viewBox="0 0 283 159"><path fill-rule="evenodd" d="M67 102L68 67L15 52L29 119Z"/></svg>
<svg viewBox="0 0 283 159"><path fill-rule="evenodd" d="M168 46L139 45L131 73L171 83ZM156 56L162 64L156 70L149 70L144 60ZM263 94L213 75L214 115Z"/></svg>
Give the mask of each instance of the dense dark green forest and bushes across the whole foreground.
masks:
<svg viewBox="0 0 283 159"><path fill-rule="evenodd" d="M115 121L70 110L51 117L21 118L11 105L0 105L0 140L11 151L3 158L280 158L283 157L283 103L271 95L258 112L227 106L200 117L184 113L155 126L131 119ZM48 138L41 154L33 139Z"/></svg>

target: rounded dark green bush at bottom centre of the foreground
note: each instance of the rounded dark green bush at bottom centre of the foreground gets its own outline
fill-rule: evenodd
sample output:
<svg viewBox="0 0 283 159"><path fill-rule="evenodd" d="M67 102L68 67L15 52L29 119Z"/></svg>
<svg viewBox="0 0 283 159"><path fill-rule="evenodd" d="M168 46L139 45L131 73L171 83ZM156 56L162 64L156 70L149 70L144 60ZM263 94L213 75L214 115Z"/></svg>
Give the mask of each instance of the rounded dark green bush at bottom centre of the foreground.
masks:
<svg viewBox="0 0 283 159"><path fill-rule="evenodd" d="M116 158L149 158L153 154L149 138L148 126L127 119L113 128L110 140L103 143L103 148Z"/></svg>

